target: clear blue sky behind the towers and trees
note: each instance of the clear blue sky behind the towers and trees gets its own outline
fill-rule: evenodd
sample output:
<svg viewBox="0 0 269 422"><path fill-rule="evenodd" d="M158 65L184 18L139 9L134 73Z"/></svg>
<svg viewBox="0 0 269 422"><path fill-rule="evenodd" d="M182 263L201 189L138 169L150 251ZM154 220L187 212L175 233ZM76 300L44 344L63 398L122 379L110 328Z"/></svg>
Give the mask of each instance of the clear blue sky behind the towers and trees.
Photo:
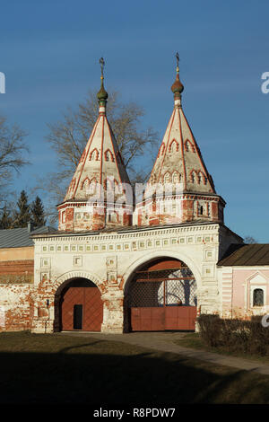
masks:
<svg viewBox="0 0 269 422"><path fill-rule="evenodd" d="M100 84L143 106L162 137L173 108L175 53L183 107L217 192L225 224L269 242L269 71L267 1L11 1L1 6L0 113L29 136L30 167L13 189L31 189L56 170L48 123ZM89 134L90 135L90 134Z"/></svg>

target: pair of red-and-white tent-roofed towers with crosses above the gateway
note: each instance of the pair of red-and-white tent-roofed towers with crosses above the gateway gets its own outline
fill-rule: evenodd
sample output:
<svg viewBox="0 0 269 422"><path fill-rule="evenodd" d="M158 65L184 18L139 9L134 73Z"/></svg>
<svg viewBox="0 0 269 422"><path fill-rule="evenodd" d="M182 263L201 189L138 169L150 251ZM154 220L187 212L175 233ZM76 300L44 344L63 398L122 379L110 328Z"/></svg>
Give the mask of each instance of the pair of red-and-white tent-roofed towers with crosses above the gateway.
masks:
<svg viewBox="0 0 269 422"><path fill-rule="evenodd" d="M106 116L108 93L97 97L99 117L74 177L58 206L59 230L82 232L137 225L223 223L224 200L216 194L181 106L179 68L171 90L174 110L145 189L133 191L117 141ZM141 189L142 190L142 189ZM138 193L135 198L134 193Z"/></svg>

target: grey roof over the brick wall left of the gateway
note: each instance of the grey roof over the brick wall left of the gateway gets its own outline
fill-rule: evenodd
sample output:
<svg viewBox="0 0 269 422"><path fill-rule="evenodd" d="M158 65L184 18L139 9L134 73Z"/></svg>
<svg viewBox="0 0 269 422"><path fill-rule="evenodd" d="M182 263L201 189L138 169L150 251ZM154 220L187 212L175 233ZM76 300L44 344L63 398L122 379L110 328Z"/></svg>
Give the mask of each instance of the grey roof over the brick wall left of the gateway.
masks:
<svg viewBox="0 0 269 422"><path fill-rule="evenodd" d="M29 231L28 227L0 230L0 248L22 248L23 246L33 246L34 242L30 238L30 235L54 232L56 232L56 229L48 225L43 225L32 231Z"/></svg>

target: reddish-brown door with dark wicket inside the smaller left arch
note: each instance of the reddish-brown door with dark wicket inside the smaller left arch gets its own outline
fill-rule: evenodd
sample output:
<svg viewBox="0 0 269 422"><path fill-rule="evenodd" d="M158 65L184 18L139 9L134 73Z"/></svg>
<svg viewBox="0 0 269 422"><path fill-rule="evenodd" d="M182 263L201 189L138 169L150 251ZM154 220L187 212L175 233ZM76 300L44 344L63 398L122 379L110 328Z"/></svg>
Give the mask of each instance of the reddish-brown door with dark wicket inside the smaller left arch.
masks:
<svg viewBox="0 0 269 422"><path fill-rule="evenodd" d="M103 303L98 287L69 287L62 300L62 330L100 331Z"/></svg>

